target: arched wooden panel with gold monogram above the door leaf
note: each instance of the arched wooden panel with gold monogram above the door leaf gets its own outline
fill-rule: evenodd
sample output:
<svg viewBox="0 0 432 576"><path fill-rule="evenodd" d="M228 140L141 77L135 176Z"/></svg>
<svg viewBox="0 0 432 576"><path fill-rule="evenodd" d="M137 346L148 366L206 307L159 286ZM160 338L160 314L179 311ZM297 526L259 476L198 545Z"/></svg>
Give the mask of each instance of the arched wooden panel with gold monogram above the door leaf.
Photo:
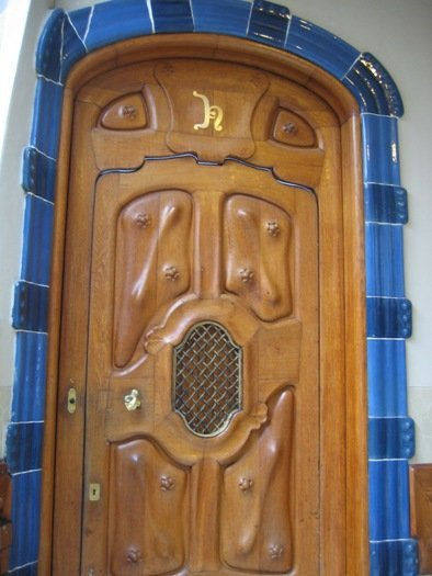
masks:
<svg viewBox="0 0 432 576"><path fill-rule="evenodd" d="M141 63L89 82L81 99L95 94L103 106L92 128L100 169L175 153L216 162L234 156L314 188L323 162L318 126L338 126L322 100L307 108L310 92L299 84L231 63Z"/></svg>

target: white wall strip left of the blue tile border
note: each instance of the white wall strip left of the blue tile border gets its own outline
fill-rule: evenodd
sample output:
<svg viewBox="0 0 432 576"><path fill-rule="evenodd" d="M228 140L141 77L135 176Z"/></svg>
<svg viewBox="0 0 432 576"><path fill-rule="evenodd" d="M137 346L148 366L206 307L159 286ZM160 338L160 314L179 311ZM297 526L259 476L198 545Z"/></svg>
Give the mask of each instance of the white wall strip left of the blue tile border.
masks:
<svg viewBox="0 0 432 576"><path fill-rule="evenodd" d="M50 0L0 0L0 455L13 379L11 306L20 276L24 208L21 158L33 111L35 46L49 5Z"/></svg>

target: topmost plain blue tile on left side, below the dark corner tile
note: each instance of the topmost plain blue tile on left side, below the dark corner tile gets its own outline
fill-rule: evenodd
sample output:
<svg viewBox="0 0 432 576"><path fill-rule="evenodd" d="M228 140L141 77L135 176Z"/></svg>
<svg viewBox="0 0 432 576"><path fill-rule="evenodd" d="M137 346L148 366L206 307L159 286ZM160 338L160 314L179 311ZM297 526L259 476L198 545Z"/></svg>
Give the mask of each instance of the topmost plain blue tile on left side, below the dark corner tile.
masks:
<svg viewBox="0 0 432 576"><path fill-rule="evenodd" d="M50 158L57 158L62 104L62 87L37 80L31 144Z"/></svg>

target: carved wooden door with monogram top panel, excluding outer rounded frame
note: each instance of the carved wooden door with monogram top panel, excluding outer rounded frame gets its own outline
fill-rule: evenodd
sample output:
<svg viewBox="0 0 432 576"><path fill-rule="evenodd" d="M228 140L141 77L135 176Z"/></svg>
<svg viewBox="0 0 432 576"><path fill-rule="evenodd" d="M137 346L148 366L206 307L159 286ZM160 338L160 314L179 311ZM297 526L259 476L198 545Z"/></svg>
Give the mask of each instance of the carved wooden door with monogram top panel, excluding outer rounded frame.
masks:
<svg viewBox="0 0 432 576"><path fill-rule="evenodd" d="M340 309L342 228L334 201L322 251L315 192L340 195L338 122L297 83L231 63L146 61L81 88L54 574L315 575L326 507L342 541L343 461L331 489L321 477L344 450L322 450L344 403L343 364L320 359L341 349L338 316L319 343L320 259Z"/></svg>

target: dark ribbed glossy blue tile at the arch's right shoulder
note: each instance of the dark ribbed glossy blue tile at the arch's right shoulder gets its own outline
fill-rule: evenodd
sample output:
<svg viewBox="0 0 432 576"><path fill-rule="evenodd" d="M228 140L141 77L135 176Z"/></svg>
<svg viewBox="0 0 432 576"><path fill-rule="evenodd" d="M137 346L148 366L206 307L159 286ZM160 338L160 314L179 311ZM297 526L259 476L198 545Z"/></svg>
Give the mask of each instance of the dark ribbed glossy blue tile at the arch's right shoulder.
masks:
<svg viewBox="0 0 432 576"><path fill-rule="evenodd" d="M402 100L395 82L372 54L359 57L343 83L357 99L362 112L394 116L403 114Z"/></svg>

